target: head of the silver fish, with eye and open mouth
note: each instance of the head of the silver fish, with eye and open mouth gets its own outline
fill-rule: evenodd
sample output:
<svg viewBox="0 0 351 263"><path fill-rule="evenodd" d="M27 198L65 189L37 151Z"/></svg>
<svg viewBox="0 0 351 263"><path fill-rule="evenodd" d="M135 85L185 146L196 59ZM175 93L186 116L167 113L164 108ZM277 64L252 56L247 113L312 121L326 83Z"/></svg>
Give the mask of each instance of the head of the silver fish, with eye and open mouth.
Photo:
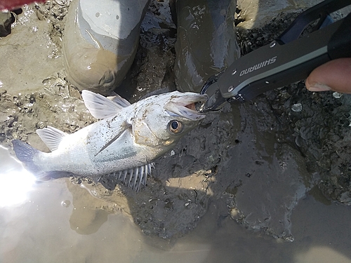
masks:
<svg viewBox="0 0 351 263"><path fill-rule="evenodd" d="M147 97L133 118L135 143L154 149L157 157L166 153L205 118L197 112L195 103L204 102L207 97L178 91Z"/></svg>

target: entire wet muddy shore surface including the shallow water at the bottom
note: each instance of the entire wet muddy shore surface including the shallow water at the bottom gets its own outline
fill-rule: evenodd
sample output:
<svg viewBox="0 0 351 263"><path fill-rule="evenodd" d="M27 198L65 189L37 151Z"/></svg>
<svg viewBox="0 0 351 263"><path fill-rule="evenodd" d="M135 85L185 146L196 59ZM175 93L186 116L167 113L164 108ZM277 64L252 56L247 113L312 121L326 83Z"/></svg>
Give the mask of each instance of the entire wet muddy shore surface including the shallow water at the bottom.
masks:
<svg viewBox="0 0 351 263"><path fill-rule="evenodd" d="M238 4L243 27L267 22L255 20L260 8L270 9L262 1ZM270 15L316 3L280 4ZM34 182L11 157L11 140L48 151L37 128L73 133L95 121L65 80L60 37L68 6L25 7L0 39L0 142L8 148L0 147L0 262L351 262L350 95L310 95L303 83L208 114L155 161L138 193L114 189L111 178L107 188L81 177ZM190 8L192 15L201 8ZM117 90L131 102L176 88L169 16L166 4L152 1ZM242 52L292 19L241 32Z"/></svg>

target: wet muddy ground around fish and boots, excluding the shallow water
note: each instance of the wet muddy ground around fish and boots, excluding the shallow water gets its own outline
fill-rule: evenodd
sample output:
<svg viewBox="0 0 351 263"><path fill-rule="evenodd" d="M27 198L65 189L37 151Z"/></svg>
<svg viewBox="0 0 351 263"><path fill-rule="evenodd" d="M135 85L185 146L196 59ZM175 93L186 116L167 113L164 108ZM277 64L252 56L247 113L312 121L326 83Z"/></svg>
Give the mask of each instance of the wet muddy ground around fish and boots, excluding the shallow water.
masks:
<svg viewBox="0 0 351 263"><path fill-rule="evenodd" d="M68 6L69 1L25 6L12 33L0 39L0 141L6 147L19 139L48 151L37 128L73 133L96 121L79 90L65 80L60 41ZM242 54L269 43L298 13L286 11L247 29L245 10L239 2ZM167 3L152 1L135 61L116 92L135 102L153 90L175 89L175 43ZM310 93L303 82L295 83L208 114L155 162L147 187L138 193L122 184L114 189L108 177L105 187L72 177L67 188L78 208L74 213L86 216L83 222L72 214L71 227L89 234L104 222L99 218L122 211L145 234L171 238L194 229L215 204L218 224L231 217L252 231L292 241L291 213L307 192L324 203L351 204L349 156L350 95ZM87 194L95 203L84 203Z"/></svg>

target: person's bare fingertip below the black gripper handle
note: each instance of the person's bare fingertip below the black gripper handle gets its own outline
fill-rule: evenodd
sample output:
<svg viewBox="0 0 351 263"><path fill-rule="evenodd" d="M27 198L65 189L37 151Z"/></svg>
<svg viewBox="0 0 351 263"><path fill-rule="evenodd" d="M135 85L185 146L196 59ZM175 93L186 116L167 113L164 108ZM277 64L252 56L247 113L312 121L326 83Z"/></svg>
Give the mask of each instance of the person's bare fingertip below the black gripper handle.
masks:
<svg viewBox="0 0 351 263"><path fill-rule="evenodd" d="M307 90L351 93L351 58L331 60L314 69L305 82Z"/></svg>

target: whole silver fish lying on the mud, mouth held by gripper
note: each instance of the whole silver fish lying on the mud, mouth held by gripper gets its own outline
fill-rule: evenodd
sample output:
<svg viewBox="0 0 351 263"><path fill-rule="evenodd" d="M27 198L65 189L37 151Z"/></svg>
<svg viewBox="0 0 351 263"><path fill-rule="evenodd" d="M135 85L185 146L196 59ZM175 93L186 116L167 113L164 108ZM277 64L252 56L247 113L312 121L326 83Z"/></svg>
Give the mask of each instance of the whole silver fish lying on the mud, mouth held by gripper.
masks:
<svg viewBox="0 0 351 263"><path fill-rule="evenodd" d="M72 134L51 126L37 130L50 153L13 140L16 156L39 179L66 172L98 182L113 174L137 191L145 186L152 162L204 119L194 103L207 98L174 91L130 104L119 95L107 98L88 90L82 97L89 112L102 120Z"/></svg>

